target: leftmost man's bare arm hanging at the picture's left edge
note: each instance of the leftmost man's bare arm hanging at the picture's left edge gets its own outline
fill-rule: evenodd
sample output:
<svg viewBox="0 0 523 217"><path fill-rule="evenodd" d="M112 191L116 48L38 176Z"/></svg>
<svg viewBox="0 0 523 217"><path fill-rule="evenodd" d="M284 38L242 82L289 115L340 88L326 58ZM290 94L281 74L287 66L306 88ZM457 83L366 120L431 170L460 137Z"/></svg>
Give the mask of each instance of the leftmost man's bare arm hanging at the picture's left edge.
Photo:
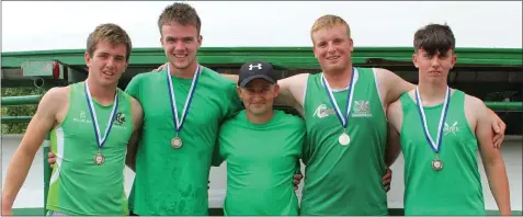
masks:
<svg viewBox="0 0 523 217"><path fill-rule="evenodd" d="M42 98L22 141L12 157L2 192L2 215L11 214L14 198L27 176L36 151L55 126L57 111L66 103L65 99L67 98L64 98L64 91L66 88L54 88Z"/></svg>

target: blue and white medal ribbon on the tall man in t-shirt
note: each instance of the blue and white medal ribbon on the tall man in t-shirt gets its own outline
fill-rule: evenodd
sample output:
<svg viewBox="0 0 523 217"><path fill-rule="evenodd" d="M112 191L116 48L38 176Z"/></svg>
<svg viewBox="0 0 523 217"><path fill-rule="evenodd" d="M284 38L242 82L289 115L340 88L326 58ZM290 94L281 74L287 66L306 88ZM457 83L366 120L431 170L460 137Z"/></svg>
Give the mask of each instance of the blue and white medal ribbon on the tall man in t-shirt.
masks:
<svg viewBox="0 0 523 217"><path fill-rule="evenodd" d="M174 128L177 134L182 129L183 123L185 122L185 116L189 112L191 106L191 102L193 100L194 90L196 89L196 82L200 78L200 65L196 67L196 71L194 71L193 82L191 83L191 89L189 90L187 99L185 100L185 105L183 106L182 117L178 117L178 110L177 110L177 98L174 95L174 90L172 88L172 79L171 79L171 69L170 66L167 67L167 85L169 87L169 95L171 96L171 112L172 116L174 116Z"/></svg>

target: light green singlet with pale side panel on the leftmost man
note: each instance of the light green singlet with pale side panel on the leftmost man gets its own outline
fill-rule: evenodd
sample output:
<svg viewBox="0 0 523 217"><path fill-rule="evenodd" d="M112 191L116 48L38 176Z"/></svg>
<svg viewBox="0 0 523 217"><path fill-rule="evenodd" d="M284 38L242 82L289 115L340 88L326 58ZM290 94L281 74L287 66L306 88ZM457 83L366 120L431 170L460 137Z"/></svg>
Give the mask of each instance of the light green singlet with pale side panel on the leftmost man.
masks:
<svg viewBox="0 0 523 217"><path fill-rule="evenodd" d="M93 162L99 147L86 99L84 82L70 85L69 108L50 132L50 150L56 155L46 208L66 215L127 215L124 167L127 142L133 134L130 96L117 89L118 105L111 132L101 149L105 162ZM113 102L114 104L114 102ZM93 99L100 133L109 127L113 104Z"/></svg>

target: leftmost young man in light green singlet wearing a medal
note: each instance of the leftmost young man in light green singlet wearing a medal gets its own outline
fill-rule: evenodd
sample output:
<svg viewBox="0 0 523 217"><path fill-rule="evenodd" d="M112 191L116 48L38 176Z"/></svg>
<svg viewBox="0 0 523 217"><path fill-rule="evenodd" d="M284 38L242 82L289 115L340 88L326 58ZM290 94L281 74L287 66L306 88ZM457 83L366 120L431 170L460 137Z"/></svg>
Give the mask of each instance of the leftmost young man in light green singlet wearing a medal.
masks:
<svg viewBox="0 0 523 217"><path fill-rule="evenodd" d="M57 159L48 215L128 214L125 153L129 140L136 140L143 111L117 82L128 65L132 43L120 26L103 24L87 44L87 80L45 93L13 155L2 192L2 215L12 215L14 198L49 132Z"/></svg>

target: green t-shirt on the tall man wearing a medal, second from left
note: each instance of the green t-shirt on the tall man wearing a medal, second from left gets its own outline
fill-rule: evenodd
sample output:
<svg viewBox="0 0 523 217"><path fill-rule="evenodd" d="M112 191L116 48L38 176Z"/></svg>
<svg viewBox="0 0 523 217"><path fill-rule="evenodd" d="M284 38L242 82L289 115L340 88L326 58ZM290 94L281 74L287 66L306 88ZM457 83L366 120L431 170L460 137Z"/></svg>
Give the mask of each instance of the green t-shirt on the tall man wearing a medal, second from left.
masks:
<svg viewBox="0 0 523 217"><path fill-rule="evenodd" d="M180 117L192 80L172 77ZM175 128L167 69L137 75L126 91L144 108L130 209L137 215L207 215L207 181L218 127L241 110L236 83L203 68L179 133L183 140L179 149L170 145Z"/></svg>

